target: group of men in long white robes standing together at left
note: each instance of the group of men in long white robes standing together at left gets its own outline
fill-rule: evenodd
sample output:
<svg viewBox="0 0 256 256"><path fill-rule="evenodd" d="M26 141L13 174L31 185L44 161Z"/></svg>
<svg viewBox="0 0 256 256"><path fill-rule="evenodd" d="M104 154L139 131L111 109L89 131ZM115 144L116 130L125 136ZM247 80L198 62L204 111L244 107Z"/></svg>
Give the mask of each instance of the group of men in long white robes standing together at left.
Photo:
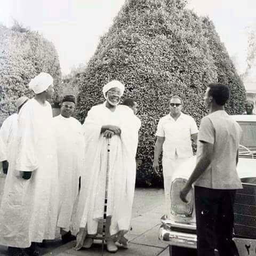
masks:
<svg viewBox="0 0 256 256"><path fill-rule="evenodd" d="M116 252L115 242L127 247L140 129L136 102L119 105L124 85L111 81L102 90L106 101L89 111L82 126L71 117L73 95L63 98L61 114L52 118L47 101L54 92L51 75L39 74L29 88L35 97L18 99L19 113L0 132L0 161L7 174L0 244L12 256L36 256L38 243L54 239L58 227L64 242L76 239L75 234L77 249L90 247L103 217L108 175L107 250Z"/></svg>

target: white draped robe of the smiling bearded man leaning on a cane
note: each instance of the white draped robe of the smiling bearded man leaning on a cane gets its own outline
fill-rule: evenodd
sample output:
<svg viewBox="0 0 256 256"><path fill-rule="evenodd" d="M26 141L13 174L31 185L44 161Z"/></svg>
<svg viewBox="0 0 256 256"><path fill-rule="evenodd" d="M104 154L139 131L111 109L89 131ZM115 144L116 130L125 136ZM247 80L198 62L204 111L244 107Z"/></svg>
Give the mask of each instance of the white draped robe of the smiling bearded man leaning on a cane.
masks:
<svg viewBox="0 0 256 256"><path fill-rule="evenodd" d="M107 139L101 133L103 125L116 125L121 129L121 135L113 135L110 142L107 204L107 215L111 216L110 235L119 231L125 233L130 228L141 123L129 107L118 105L111 111L105 102L92 107L83 124L85 169L74 221L75 233L80 229L77 249L83 246L86 234L97 234L98 221L103 216L107 171Z"/></svg>

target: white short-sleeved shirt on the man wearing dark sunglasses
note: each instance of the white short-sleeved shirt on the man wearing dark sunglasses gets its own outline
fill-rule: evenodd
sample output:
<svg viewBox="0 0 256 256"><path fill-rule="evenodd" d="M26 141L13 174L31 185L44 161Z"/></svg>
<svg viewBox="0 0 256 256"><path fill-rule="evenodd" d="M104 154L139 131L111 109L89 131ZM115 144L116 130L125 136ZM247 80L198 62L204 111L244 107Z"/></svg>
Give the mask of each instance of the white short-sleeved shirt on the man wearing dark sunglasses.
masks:
<svg viewBox="0 0 256 256"><path fill-rule="evenodd" d="M191 134L197 132L196 122L189 115L181 113L176 121L170 114L162 117L157 125L156 136L165 138L163 157L173 159L175 158L175 153L179 158L193 156Z"/></svg>

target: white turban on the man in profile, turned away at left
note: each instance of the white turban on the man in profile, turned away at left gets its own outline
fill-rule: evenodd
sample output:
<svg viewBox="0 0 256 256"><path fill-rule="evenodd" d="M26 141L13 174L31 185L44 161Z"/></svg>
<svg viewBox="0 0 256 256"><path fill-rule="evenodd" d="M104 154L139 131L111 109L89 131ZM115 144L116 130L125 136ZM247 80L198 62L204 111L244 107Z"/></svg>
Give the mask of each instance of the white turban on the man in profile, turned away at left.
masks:
<svg viewBox="0 0 256 256"><path fill-rule="evenodd" d="M28 84L29 89L33 90L35 94L44 92L50 85L53 85L53 78L50 74L44 72L31 79Z"/></svg>

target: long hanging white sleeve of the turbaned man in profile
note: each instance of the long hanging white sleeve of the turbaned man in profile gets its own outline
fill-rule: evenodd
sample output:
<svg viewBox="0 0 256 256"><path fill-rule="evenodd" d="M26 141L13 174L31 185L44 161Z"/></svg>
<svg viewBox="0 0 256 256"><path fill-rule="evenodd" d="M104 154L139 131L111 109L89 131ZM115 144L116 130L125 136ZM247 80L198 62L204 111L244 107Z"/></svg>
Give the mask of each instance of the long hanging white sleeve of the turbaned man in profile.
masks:
<svg viewBox="0 0 256 256"><path fill-rule="evenodd" d="M16 171L32 172L38 168L38 159L36 157L37 135L33 116L34 109L30 105L25 105L21 109L18 117L18 155L15 163ZM45 124L44 124L45 125Z"/></svg>

